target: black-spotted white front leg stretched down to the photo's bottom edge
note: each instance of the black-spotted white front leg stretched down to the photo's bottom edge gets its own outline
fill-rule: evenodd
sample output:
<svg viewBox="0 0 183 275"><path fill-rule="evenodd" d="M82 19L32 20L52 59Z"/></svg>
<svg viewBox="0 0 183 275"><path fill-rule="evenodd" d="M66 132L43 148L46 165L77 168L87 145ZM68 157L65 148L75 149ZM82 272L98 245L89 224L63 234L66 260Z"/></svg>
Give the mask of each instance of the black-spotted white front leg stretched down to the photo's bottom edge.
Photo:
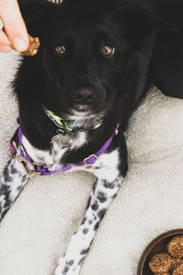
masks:
<svg viewBox="0 0 183 275"><path fill-rule="evenodd" d="M116 152L104 154L102 158L104 158L105 165L103 162L100 169L97 170L99 167L96 167L96 169L93 169L94 171L91 171L97 176L97 180L89 197L81 226L71 237L66 254L59 259L55 275L79 274L81 262L86 256L96 229L99 227L107 207L116 196L120 183L124 178L121 169L118 168L120 158L117 150ZM98 161L102 161L102 158Z"/></svg>

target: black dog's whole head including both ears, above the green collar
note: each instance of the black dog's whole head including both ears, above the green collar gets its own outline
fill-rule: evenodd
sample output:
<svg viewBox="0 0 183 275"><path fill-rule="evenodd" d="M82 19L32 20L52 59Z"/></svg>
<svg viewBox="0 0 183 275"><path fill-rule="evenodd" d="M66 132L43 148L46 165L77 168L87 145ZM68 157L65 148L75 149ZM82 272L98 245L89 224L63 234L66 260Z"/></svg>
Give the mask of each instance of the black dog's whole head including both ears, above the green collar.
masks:
<svg viewBox="0 0 183 275"><path fill-rule="evenodd" d="M131 56L154 30L176 28L140 7L122 8L114 2L19 1L28 33L40 39L37 55L25 57L30 86L35 78L37 83L42 79L31 101L42 101L63 118L119 110Z"/></svg>

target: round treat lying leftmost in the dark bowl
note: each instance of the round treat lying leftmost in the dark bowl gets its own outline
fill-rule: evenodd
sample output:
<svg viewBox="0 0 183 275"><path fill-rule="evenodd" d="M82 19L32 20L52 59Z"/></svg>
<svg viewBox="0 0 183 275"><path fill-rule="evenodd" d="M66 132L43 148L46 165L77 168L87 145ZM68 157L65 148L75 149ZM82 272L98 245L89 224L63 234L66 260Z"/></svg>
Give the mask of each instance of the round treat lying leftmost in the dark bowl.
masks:
<svg viewBox="0 0 183 275"><path fill-rule="evenodd" d="M160 253L154 255L150 262L149 267L152 270L152 272L155 273L163 273L167 272L170 269L172 259L168 254Z"/></svg>

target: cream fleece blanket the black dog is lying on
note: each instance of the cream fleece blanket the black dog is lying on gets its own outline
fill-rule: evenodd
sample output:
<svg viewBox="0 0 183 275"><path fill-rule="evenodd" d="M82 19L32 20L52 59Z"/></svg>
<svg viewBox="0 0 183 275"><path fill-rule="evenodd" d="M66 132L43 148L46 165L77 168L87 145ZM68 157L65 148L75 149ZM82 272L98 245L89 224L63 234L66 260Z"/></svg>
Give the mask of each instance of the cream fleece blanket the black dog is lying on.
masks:
<svg viewBox="0 0 183 275"><path fill-rule="evenodd" d="M10 159L17 107L7 85L18 54L0 54L0 172ZM136 275L146 245L183 228L183 100L151 89L126 134L129 170L81 267L81 275ZM52 275L82 221L94 176L30 180L0 224L0 275Z"/></svg>

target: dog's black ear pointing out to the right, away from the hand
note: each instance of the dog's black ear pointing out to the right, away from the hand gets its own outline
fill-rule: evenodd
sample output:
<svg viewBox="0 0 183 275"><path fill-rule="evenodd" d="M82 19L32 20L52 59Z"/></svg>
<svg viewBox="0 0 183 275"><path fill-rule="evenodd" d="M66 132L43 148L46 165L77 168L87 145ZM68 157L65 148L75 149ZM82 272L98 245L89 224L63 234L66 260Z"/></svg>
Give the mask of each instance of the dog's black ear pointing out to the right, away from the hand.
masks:
<svg viewBox="0 0 183 275"><path fill-rule="evenodd" d="M140 6L119 8L117 17L126 25L127 37L139 41L152 35L153 31L178 31L171 22L165 21Z"/></svg>

